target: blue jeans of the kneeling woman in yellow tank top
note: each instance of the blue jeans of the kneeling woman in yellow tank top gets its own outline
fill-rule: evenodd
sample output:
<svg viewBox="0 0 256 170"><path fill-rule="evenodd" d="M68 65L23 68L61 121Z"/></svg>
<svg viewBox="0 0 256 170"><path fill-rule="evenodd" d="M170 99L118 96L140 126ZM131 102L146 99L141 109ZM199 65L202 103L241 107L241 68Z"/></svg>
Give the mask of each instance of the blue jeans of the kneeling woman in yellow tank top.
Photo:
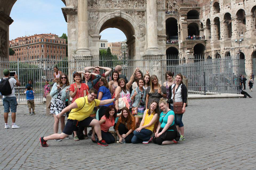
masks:
<svg viewBox="0 0 256 170"><path fill-rule="evenodd" d="M133 131L133 138L131 140L132 143L142 143L143 141L149 141L150 135L152 134L151 130L141 129L140 132Z"/></svg>

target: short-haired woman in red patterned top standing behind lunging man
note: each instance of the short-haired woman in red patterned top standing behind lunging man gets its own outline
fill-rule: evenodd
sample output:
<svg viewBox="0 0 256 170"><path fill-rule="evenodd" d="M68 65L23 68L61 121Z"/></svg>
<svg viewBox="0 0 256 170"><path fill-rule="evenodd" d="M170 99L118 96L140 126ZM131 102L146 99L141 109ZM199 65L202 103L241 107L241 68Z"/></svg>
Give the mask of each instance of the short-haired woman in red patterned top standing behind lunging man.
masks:
<svg viewBox="0 0 256 170"><path fill-rule="evenodd" d="M89 93L89 87L87 84L82 83L82 75L80 73L75 73L73 75L73 79L75 81L74 84L71 84L69 89L69 95L72 97L72 102L73 103L77 98L79 97L84 97L88 95ZM87 131L86 131L87 132ZM87 135L87 133L86 133ZM77 131L74 131L74 140L79 141L78 136L77 136Z"/></svg>

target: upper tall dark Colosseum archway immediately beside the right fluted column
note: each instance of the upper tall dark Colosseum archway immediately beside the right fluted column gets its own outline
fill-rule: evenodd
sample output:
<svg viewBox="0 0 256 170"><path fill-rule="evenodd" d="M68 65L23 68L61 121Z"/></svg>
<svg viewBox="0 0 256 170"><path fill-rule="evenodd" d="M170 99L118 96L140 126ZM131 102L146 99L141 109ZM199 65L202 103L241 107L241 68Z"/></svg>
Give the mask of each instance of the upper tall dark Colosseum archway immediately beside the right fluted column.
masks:
<svg viewBox="0 0 256 170"><path fill-rule="evenodd" d="M167 39L178 39L178 25L175 18L168 18L165 21Z"/></svg>

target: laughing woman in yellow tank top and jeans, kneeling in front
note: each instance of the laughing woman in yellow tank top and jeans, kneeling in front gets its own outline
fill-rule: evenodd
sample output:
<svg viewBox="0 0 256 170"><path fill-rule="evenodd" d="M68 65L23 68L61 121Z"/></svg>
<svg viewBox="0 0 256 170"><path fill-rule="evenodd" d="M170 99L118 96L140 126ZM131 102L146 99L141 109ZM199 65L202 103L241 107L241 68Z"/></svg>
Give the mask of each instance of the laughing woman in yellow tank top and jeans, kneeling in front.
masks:
<svg viewBox="0 0 256 170"><path fill-rule="evenodd" d="M158 120L157 106L158 102L152 101L150 108L144 111L140 127L133 131L132 143L148 144L152 141L152 137L150 136L153 133L156 120Z"/></svg>

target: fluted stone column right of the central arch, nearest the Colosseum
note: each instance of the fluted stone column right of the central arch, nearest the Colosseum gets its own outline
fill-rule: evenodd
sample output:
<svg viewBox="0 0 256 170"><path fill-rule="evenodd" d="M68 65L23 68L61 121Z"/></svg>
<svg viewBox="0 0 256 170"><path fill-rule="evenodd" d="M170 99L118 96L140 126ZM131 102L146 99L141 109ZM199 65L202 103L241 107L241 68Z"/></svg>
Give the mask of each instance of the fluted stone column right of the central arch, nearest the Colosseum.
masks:
<svg viewBox="0 0 256 170"><path fill-rule="evenodd" d="M157 46L156 0L148 0L147 8L147 48L146 54L161 54Z"/></svg>

